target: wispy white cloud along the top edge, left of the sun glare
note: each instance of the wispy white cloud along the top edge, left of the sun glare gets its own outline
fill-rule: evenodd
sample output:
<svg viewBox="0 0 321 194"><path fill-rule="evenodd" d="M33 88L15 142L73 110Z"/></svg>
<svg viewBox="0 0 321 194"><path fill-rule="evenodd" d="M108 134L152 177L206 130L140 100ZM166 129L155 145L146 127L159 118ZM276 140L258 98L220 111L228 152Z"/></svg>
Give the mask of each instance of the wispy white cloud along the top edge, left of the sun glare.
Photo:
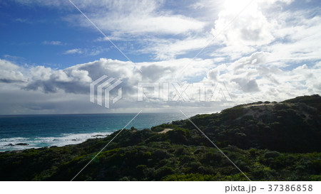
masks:
<svg viewBox="0 0 321 194"><path fill-rule="evenodd" d="M146 33L180 34L200 31L205 23L195 18L160 9L163 1L73 1L88 18L112 36L138 36ZM98 9L99 8L99 9ZM66 21L93 28L80 13L66 17Z"/></svg>

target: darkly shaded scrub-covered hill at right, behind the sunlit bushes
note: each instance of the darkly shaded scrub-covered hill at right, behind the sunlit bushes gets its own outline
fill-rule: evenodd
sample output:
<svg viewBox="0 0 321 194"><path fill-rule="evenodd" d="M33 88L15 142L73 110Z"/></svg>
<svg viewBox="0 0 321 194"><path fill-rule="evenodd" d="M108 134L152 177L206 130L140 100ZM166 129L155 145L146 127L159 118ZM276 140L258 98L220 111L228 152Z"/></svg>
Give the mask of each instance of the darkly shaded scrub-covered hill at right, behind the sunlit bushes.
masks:
<svg viewBox="0 0 321 194"><path fill-rule="evenodd" d="M310 104L311 103L311 104ZM190 119L221 146L256 147L287 152L321 151L319 95L297 97L282 103L256 102L225 109L220 114ZM193 130L181 121L178 126Z"/></svg>

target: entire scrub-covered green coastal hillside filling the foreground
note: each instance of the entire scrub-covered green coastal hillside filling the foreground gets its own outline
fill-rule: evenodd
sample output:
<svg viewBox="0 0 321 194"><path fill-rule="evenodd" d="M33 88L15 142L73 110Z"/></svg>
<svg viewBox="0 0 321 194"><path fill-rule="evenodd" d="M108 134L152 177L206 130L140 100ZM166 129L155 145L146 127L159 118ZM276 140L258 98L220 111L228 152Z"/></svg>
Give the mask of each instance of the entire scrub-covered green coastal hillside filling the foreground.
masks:
<svg viewBox="0 0 321 194"><path fill-rule="evenodd" d="M321 180L320 104L312 95L190 119L251 180ZM71 180L117 132L77 145L0 153L0 180ZM247 178L185 119L123 130L75 180Z"/></svg>

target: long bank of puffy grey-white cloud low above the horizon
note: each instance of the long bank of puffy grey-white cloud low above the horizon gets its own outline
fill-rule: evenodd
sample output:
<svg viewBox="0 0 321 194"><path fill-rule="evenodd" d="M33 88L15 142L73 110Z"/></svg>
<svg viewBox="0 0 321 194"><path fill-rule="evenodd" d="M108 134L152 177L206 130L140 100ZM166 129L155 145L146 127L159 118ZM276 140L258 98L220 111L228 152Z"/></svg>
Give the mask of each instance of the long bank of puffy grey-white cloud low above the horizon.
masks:
<svg viewBox="0 0 321 194"><path fill-rule="evenodd" d="M16 95L22 87L25 89L21 90L22 96L35 95L34 100L28 99L25 105L17 102L17 97L12 97L12 102L9 97L6 103L13 103L10 109L16 109L14 107L19 105L21 112L22 110L28 112L28 109L30 113L36 111L43 113L66 112L66 107L63 107L63 104L65 106L67 103L74 104L72 100L75 99L82 108L73 108L73 105L70 105L69 108L79 113L86 112L86 110L87 112L103 112L101 107L95 107L95 104L88 102L89 84L101 75L108 75L123 81L121 84L123 98L113 106L113 111L116 112L132 112L138 108L156 111L168 107L193 109L196 112L211 108L218 111L234 104L258 100L282 100L297 95L312 95L321 92L321 82L317 81L317 77L321 74L320 63L310 68L303 64L293 70L285 71L280 68L267 67L265 55L267 53L254 53L248 57L240 58L234 63L222 65L215 65L211 60L195 60L193 61L195 65L189 68L185 74L177 74L177 72L190 62L190 59L136 63L143 74L133 70L133 66L129 62L104 58L64 70L34 66L21 71L19 71L21 69L19 66L1 60L4 62L1 64L6 64L7 69L11 68L11 70L18 72L16 75L19 75L19 72L24 72L24 74L21 73L20 78L24 77L26 81L15 86L14 82L2 82L0 83L2 85L0 93L2 96L9 97L13 94ZM210 70L208 71L208 69ZM199 102L199 89L193 87L188 87L186 90L190 102L163 102L161 98L136 102L138 82L160 82L162 90L163 82L180 81L180 85L183 85L186 80L195 79L195 77L200 77L198 81L213 82L213 84L224 82L234 102ZM175 94L175 90L170 91L170 97L174 97ZM76 104L74 105L76 106ZM37 110L34 107L38 107Z"/></svg>

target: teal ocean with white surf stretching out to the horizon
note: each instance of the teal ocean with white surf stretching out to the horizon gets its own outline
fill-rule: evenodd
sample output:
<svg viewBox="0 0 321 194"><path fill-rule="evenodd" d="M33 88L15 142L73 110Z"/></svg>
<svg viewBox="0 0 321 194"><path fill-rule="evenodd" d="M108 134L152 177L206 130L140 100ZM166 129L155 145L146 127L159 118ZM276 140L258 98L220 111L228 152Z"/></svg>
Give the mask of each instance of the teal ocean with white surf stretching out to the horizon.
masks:
<svg viewBox="0 0 321 194"><path fill-rule="evenodd" d="M79 144L86 139L103 137L123 129L135 115L0 115L0 151ZM131 126L146 129L179 119L185 119L185 116L179 113L141 113L126 129Z"/></svg>

